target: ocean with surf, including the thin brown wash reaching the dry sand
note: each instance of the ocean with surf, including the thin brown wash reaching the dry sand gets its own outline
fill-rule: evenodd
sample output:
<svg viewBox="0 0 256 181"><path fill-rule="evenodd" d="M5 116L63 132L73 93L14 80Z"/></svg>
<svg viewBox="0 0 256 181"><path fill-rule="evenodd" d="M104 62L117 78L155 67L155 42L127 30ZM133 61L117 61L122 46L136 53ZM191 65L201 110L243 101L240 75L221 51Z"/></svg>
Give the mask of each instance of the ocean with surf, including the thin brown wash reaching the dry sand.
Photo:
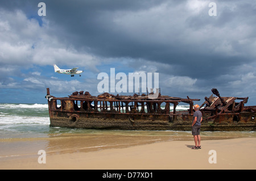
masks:
<svg viewBox="0 0 256 181"><path fill-rule="evenodd" d="M177 107L177 110L188 106ZM22 149L33 141L43 141L44 149L56 151L92 151L120 148L160 141L191 140L191 132L183 131L122 131L49 127L48 104L0 104L0 145L6 154L10 143L23 142ZM255 132L201 132L205 139L256 137ZM8 144L6 144L8 143ZM26 143L26 144L25 144ZM38 145L35 145L38 149ZM0 150L1 157L1 150Z"/></svg>

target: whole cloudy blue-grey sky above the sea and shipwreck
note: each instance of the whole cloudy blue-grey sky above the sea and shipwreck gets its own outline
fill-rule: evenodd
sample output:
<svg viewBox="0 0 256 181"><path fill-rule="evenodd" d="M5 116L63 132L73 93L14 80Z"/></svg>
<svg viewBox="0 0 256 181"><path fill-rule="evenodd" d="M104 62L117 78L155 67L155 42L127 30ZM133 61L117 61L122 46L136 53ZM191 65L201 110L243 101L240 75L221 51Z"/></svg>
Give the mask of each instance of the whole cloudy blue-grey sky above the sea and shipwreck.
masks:
<svg viewBox="0 0 256 181"><path fill-rule="evenodd" d="M0 103L45 104L47 87L56 97L98 95L98 75L114 68L159 73L162 95L200 104L216 88L255 105L255 12L255 0L1 0ZM57 74L53 64L84 73Z"/></svg>

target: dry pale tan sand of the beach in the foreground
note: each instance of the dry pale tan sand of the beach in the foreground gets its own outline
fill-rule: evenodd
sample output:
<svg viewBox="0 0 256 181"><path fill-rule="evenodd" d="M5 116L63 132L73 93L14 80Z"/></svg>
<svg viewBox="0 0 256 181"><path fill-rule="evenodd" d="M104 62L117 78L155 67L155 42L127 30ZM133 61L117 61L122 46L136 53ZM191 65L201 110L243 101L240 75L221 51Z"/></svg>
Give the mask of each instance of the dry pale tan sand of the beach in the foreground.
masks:
<svg viewBox="0 0 256 181"><path fill-rule="evenodd" d="M192 150L193 141L163 141L125 148L94 151L47 150L45 140L23 141L19 153L0 157L0 169L256 169L256 138L205 140L202 149ZM19 141L7 145L21 144ZM44 145L46 144L46 145ZM61 144L61 142L59 143ZM72 144L72 142L70 142ZM46 163L39 163L36 150L46 149ZM6 146L6 145L5 145ZM214 154L210 150L216 151ZM35 153L36 154L33 154ZM216 161L216 163L209 162Z"/></svg>

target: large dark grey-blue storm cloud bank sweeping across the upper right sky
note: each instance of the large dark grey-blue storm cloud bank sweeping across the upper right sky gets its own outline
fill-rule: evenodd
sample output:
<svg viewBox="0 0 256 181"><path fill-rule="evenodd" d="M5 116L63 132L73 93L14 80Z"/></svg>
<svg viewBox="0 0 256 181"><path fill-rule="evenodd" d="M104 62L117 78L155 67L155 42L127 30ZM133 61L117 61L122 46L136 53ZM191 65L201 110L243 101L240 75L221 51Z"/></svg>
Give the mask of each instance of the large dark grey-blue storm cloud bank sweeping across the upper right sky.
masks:
<svg viewBox="0 0 256 181"><path fill-rule="evenodd" d="M59 39L98 56L158 61L176 67L170 74L205 78L228 74L232 67L254 61L255 55L245 49L248 45L239 41L255 37L252 24L256 19L255 6L217 1L218 15L211 17L208 6L201 10L192 6L189 10L188 2L46 1L46 4L47 18L50 25L56 26L55 30L59 28ZM155 7L159 10L152 10ZM160 12L163 14L158 15ZM154 19L154 15L158 17ZM161 20L164 25L159 23ZM155 30L150 30L154 25ZM161 39L160 33L166 40ZM197 75L193 73L195 69Z"/></svg>

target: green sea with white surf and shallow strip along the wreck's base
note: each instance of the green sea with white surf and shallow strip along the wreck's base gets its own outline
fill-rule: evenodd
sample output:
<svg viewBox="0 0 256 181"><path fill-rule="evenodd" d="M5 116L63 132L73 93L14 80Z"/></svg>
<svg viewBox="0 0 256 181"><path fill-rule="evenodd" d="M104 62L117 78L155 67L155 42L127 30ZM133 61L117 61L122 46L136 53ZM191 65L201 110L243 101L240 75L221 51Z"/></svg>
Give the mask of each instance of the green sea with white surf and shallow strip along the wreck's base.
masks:
<svg viewBox="0 0 256 181"><path fill-rule="evenodd" d="M189 106L177 106L176 110L187 110ZM172 109L172 108L171 108ZM191 136L181 131L121 131L49 127L48 104L0 104L0 137L28 138L48 137L49 134L113 134L143 136ZM255 132L204 132L205 136L256 136Z"/></svg>

